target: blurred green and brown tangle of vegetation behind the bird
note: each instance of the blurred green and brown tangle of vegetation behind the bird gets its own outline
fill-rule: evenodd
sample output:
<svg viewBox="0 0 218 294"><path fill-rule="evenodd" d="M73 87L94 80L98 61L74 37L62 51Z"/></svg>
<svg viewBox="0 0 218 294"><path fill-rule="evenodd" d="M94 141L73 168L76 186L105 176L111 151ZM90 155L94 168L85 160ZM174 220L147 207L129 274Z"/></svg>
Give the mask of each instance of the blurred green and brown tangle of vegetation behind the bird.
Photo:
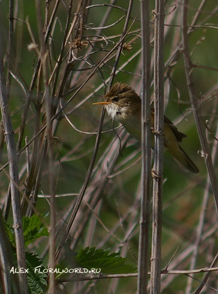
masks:
<svg viewBox="0 0 218 294"><path fill-rule="evenodd" d="M70 1L69 1L70 2ZM192 52L193 72L196 93L199 97L202 119L218 138L218 4L216 0L189 2L189 24L197 16L194 26L190 26L189 46ZM106 5L108 4L108 5ZM112 4L112 5L111 5ZM14 3L14 32L9 43L8 1L0 1L0 29L4 50L4 69L7 78L8 98L16 140L21 132L21 119L30 99L26 123L23 129L21 147L24 147L45 125L44 77L40 67L32 90L32 77L37 68L40 51L38 18L34 1L20 0ZM48 6L47 6L48 5ZM41 1L44 32L51 18L55 1ZM79 13L77 11L80 5ZM113 5L116 5L113 6ZM49 95L52 101L53 137L56 180L56 230L57 245L63 238L65 228L73 207L87 176L89 164L95 150L96 133L102 107L93 106L107 90L107 83L114 65L116 50L124 29L129 1L87 0L72 1L69 25L66 28L69 12L68 1L60 1L46 44L46 67ZM153 73L153 9L151 1L151 49ZM165 269L178 248L168 269L188 270L191 262L195 269L210 267L218 251L217 212L214 198L207 185L207 171L200 154L200 143L192 115L187 88L181 44L182 4L166 1L165 5L165 114L173 121L179 131L187 134L182 147L200 169L195 175L182 171L169 154L164 162L164 198L162 230L162 268ZM48 22L45 16L48 13ZM122 19L121 19L122 18ZM119 22L118 20L121 19ZM72 25L73 22L74 26ZM117 23L116 23L117 22ZM72 25L67 41L64 41L63 58L59 60L63 40ZM141 91L141 40L140 40L140 2L133 1L129 31L125 36L126 47L119 59L114 81L130 84L137 93ZM30 33L31 30L31 33ZM32 36L31 36L32 34ZM75 44L75 36L77 44ZM33 41L35 39L35 44ZM9 54L9 47L11 51ZM176 53L176 58L173 59ZM101 64L103 58L104 64ZM59 60L59 63L57 62ZM66 66L71 63L67 74ZM60 65L59 72L57 66ZM92 72L97 69L92 75ZM86 81L86 83L84 83ZM55 84L55 82L57 84ZM83 84L84 83L84 84ZM61 89L62 86L62 89ZM153 82L151 89L153 89ZM97 97L96 97L97 96ZM67 118L67 119L66 119ZM73 127L74 126L74 127ZM115 123L115 126L118 126ZM76 219L70 229L68 241L64 245L59 261L65 258L66 247L74 252L81 248L96 247L120 252L128 263L137 266L139 216L140 216L140 145L123 128L116 132L106 114L104 131L87 184L86 193ZM79 131L78 131L79 130ZM0 142L0 164L7 163L7 150L2 136ZM207 133L208 144L213 151L216 171L218 171L216 147L217 140ZM19 157L20 194L31 199L36 195L35 211L28 204L23 214L44 214L49 206L49 173L47 154L43 157L46 130L38 136L33 147L30 144ZM18 147L19 151L19 147ZM35 158L35 159L34 159ZM28 186L29 172L34 166L33 181ZM40 167L42 168L39 172ZM8 167L0 172L0 204L5 209L8 195ZM23 198L25 199L25 198ZM24 201L24 200L23 200ZM88 203L88 205L87 205ZM12 225L12 212L5 216ZM107 229L106 229L107 228ZM198 242L197 242L198 240ZM194 251L196 248L196 251ZM42 237L28 245L30 252L39 254L48 261L48 238ZM69 268L74 265L70 265ZM75 276L75 275L74 275ZM195 275L199 280L204 274ZM77 276L78 277L78 276ZM218 289L217 273L208 280L211 287ZM199 282L184 275L163 275L162 292L193 293ZM137 278L107 279L101 281L65 283L60 288L67 293L136 293ZM216 293L204 287L201 293Z"/></svg>

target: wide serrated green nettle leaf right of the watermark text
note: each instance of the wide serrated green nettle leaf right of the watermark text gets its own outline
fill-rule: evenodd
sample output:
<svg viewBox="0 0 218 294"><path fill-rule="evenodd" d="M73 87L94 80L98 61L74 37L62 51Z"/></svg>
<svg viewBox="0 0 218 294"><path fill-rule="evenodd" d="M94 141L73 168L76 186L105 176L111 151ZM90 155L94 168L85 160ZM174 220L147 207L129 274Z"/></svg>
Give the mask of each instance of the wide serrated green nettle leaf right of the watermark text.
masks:
<svg viewBox="0 0 218 294"><path fill-rule="evenodd" d="M109 254L109 250L82 248L75 258L78 265L85 269L101 269L101 272L110 274L137 272L136 267L125 265L127 258L121 257L120 253Z"/></svg>

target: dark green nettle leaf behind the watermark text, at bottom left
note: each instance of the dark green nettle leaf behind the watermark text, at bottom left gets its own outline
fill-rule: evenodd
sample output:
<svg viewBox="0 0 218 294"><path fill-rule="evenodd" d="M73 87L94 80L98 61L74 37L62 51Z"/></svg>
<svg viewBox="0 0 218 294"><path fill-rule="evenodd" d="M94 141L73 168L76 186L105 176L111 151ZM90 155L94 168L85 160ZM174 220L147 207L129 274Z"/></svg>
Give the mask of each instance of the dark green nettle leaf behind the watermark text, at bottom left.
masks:
<svg viewBox="0 0 218 294"><path fill-rule="evenodd" d="M26 252L26 266L28 268L27 280L31 294L45 293L47 274L43 272L42 261L37 255Z"/></svg>

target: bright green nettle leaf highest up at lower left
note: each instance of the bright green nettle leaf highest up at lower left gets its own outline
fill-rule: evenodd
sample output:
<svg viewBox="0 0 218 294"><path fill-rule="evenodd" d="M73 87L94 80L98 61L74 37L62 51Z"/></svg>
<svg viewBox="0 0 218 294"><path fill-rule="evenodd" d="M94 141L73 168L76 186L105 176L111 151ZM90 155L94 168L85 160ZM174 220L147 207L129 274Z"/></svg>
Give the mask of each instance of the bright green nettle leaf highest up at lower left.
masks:
<svg viewBox="0 0 218 294"><path fill-rule="evenodd" d="M37 215L33 215L31 218L22 217L23 236L26 246L42 236L49 236L42 218ZM45 220L45 218L43 219Z"/></svg>

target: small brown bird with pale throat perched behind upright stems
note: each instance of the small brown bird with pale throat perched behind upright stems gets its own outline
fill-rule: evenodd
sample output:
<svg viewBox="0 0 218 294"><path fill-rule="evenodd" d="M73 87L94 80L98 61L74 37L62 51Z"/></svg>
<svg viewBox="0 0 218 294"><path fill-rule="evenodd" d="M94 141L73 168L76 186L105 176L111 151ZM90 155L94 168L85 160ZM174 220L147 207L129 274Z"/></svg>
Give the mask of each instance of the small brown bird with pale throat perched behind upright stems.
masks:
<svg viewBox="0 0 218 294"><path fill-rule="evenodd" d="M93 104L103 104L109 116L120 122L130 135L141 142L141 98L128 84L116 82L103 96L105 101ZM151 108L151 130L154 129L154 108ZM176 126L164 116L164 148L184 170L198 173L199 169L188 154L179 145L187 136L179 132ZM154 147L154 135L152 136Z"/></svg>

